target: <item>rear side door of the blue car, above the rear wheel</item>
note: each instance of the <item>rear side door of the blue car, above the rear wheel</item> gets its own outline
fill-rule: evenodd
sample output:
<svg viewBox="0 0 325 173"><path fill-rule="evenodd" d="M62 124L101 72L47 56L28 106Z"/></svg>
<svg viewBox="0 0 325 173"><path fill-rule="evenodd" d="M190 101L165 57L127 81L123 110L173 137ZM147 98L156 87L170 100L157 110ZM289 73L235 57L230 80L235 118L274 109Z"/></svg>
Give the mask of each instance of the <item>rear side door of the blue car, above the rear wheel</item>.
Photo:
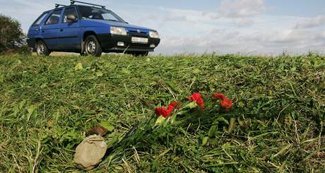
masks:
<svg viewBox="0 0 325 173"><path fill-rule="evenodd" d="M62 9L55 10L51 13L49 18L45 21L41 28L40 34L45 40L45 44L49 49L58 49L58 33L60 31L60 19L61 19Z"/></svg>

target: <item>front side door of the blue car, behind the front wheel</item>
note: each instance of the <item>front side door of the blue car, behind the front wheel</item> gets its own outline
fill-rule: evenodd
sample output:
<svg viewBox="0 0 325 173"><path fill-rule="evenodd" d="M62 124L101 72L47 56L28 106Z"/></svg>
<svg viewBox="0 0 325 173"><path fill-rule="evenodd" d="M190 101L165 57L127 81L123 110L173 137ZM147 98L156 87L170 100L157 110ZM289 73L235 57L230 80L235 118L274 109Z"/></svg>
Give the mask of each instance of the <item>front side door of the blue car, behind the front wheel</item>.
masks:
<svg viewBox="0 0 325 173"><path fill-rule="evenodd" d="M69 20L68 16L75 16L76 20ZM60 49L80 49L79 20L74 6L64 9L61 19L61 30L58 42Z"/></svg>

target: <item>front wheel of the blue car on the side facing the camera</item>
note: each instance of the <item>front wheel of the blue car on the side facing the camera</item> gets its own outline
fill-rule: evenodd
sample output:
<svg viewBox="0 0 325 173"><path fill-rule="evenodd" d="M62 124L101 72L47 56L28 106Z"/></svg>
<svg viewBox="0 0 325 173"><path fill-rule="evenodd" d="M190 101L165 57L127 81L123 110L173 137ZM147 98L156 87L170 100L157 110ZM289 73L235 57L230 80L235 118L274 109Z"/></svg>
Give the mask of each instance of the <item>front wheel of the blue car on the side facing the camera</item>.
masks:
<svg viewBox="0 0 325 173"><path fill-rule="evenodd" d="M85 39L85 54L88 56L100 56L102 54L102 47L95 35L89 35Z"/></svg>

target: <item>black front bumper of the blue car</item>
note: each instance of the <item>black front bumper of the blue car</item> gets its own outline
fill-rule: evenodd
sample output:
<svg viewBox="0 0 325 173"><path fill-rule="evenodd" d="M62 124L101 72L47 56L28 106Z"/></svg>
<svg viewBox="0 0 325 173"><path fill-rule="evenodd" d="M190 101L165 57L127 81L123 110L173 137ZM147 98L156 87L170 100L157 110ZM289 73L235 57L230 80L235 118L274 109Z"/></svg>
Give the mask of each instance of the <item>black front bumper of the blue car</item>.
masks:
<svg viewBox="0 0 325 173"><path fill-rule="evenodd" d="M128 35L102 34L97 35L97 37L104 52L153 52L160 43L159 38L151 38L148 35L136 33L128 33ZM148 38L148 43L132 43L132 37ZM117 46L117 42L124 42L124 46ZM150 44L155 44L155 47L150 47Z"/></svg>

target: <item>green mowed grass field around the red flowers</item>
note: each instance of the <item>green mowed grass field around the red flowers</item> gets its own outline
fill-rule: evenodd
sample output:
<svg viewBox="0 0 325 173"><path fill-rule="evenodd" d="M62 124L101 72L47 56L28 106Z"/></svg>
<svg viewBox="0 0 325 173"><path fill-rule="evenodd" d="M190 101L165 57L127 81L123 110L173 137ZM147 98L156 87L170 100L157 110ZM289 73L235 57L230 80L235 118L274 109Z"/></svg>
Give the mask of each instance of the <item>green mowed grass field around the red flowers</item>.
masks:
<svg viewBox="0 0 325 173"><path fill-rule="evenodd" d="M100 121L114 125L109 143L193 92L224 93L234 106L117 146L93 171L325 171L325 57L317 54L0 56L0 170L76 172L74 149Z"/></svg>

